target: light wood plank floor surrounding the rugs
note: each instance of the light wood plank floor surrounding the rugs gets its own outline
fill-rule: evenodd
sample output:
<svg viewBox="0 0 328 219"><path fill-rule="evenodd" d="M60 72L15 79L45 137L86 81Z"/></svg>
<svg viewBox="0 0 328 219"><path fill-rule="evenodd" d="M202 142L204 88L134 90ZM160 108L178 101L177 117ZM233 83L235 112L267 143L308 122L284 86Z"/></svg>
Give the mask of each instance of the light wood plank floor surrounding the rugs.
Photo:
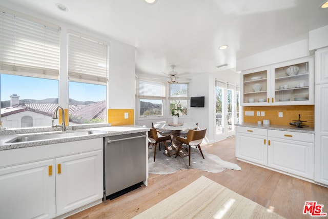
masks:
<svg viewBox="0 0 328 219"><path fill-rule="evenodd" d="M323 212L328 213L328 188L236 160L234 137L203 145L202 149L224 161L238 164L241 170L226 169L220 173L210 173L183 169L168 175L149 174L148 187L141 186L114 200L107 200L107 204L101 203L69 218L131 218L201 175L286 218L311 218L309 214L303 215L305 201L324 205Z"/></svg>

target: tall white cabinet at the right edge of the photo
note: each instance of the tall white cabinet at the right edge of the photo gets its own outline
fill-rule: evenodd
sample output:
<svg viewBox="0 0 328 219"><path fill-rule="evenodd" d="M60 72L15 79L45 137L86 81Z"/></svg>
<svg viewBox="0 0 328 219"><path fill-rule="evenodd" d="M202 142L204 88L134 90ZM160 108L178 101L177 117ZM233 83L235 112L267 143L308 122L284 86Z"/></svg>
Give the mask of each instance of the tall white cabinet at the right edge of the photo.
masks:
<svg viewBox="0 0 328 219"><path fill-rule="evenodd" d="M315 52L315 166L314 180L328 185L328 47Z"/></svg>

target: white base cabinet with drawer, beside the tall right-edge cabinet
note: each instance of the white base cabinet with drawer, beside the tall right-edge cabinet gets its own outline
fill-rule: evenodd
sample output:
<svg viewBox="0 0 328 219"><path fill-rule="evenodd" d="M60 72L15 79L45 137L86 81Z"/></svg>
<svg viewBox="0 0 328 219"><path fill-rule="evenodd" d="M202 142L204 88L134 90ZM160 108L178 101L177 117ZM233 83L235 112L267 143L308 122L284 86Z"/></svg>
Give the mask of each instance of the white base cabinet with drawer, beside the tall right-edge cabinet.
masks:
<svg viewBox="0 0 328 219"><path fill-rule="evenodd" d="M313 180L314 134L268 130L268 166Z"/></svg>

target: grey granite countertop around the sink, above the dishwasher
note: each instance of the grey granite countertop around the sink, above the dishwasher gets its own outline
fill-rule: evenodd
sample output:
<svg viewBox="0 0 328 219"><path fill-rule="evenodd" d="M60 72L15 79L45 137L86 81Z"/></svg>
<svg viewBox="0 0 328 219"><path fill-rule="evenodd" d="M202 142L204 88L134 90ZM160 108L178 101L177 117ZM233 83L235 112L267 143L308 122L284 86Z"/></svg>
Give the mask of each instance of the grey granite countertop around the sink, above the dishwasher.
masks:
<svg viewBox="0 0 328 219"><path fill-rule="evenodd" d="M34 147L34 146L42 146L42 145L50 145L50 144L58 144L64 142L74 142L74 141L81 141L81 140L89 140L94 138L102 138L108 136L115 136L115 135L122 135L122 134L132 134L138 132L147 132L150 129L147 127L140 127L136 125L128 125L128 126L112 126L112 129L116 129L117 127L124 127L125 130L118 130L118 131L111 131L106 130L106 127L98 128L85 128L79 129L81 130L92 130L92 134L88 135L80 135L80 136L70 136L70 137L63 137L63 138L53 138L48 140L38 140L38 141L30 141L30 142L19 142L19 143L6 143L14 137L19 136L19 134L10 134L10 135L0 135L0 151L2 150L9 150L9 149L17 149L17 148L27 148L27 147ZM66 131L74 132L72 130ZM28 133L29 135L33 135L34 133Z"/></svg>

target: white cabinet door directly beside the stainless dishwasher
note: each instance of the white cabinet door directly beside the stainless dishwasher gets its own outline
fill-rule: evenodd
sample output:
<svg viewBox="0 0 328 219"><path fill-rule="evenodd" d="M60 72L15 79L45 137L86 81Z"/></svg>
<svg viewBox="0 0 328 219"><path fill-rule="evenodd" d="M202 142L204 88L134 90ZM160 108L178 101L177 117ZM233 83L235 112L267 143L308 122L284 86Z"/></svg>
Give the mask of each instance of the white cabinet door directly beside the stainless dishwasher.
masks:
<svg viewBox="0 0 328 219"><path fill-rule="evenodd" d="M103 196L103 150L56 158L57 215Z"/></svg>

